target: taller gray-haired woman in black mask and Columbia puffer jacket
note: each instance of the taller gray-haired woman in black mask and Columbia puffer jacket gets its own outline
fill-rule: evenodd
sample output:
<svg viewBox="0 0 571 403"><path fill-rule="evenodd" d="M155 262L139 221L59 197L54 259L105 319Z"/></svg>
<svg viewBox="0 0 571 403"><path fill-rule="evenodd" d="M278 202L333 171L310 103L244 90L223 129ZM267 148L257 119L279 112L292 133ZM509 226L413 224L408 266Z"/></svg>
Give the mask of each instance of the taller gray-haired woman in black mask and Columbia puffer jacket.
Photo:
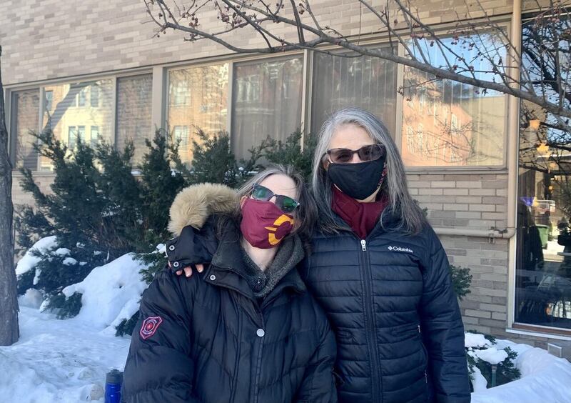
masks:
<svg viewBox="0 0 571 403"><path fill-rule="evenodd" d="M335 332L340 402L470 402L448 259L388 129L363 109L333 114L312 182L318 227L300 272Z"/></svg>

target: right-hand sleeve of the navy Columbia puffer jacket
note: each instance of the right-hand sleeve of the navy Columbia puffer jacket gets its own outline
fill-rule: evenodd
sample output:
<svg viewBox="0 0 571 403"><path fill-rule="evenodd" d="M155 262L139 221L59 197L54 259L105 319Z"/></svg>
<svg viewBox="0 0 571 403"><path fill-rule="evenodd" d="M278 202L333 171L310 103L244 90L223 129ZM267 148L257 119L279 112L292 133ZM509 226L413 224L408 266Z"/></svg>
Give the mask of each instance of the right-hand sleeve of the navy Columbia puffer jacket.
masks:
<svg viewBox="0 0 571 403"><path fill-rule="evenodd" d="M420 322L428 350L429 374L436 402L470 402L470 381L464 348L464 325L453 289L448 257L433 229L423 262Z"/></svg>

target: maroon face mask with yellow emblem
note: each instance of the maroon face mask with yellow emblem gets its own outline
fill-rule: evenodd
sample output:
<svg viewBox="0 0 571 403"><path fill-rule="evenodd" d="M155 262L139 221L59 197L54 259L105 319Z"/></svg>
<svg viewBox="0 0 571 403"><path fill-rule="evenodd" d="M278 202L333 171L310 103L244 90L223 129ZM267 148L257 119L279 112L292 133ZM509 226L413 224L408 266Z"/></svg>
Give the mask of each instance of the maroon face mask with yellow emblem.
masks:
<svg viewBox="0 0 571 403"><path fill-rule="evenodd" d="M293 229L293 217L271 201L248 198L242 206L242 235L253 247L276 247Z"/></svg>

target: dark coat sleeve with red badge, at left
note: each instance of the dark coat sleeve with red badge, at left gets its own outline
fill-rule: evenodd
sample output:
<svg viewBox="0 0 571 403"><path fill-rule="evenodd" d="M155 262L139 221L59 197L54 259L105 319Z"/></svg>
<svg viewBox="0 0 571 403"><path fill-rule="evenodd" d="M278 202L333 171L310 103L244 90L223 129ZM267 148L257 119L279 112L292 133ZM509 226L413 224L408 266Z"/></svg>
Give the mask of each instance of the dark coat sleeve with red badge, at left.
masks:
<svg viewBox="0 0 571 403"><path fill-rule="evenodd" d="M193 402L189 325L193 289L200 279L184 281L183 292L176 275L163 270L143 293L123 373L123 402ZM142 331L143 324L151 330Z"/></svg>

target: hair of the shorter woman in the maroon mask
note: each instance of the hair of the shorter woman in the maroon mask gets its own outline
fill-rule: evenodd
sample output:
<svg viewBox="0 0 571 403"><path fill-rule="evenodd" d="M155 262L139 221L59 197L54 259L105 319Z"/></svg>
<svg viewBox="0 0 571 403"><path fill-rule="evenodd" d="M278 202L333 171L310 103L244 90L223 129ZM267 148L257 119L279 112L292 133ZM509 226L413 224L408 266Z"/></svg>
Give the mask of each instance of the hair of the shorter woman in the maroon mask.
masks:
<svg viewBox="0 0 571 403"><path fill-rule="evenodd" d="M293 227L292 234L299 234L303 241L307 242L313 235L313 229L317 219L317 209L315 209L315 201L313 200L313 196L311 196L308 186L305 184L303 176L301 176L298 171L295 171L293 166L276 164L258 172L258 174L254 175L238 189L238 199L242 199L243 196L250 196L252 186L254 184L259 184L268 176L276 174L289 176L293 180L293 183L295 183L295 191L298 194L297 200L299 201L299 207L295 209L295 212L293 212L295 225ZM239 204L236 212L233 214L233 218L236 222L240 222L242 218L241 207Z"/></svg>

